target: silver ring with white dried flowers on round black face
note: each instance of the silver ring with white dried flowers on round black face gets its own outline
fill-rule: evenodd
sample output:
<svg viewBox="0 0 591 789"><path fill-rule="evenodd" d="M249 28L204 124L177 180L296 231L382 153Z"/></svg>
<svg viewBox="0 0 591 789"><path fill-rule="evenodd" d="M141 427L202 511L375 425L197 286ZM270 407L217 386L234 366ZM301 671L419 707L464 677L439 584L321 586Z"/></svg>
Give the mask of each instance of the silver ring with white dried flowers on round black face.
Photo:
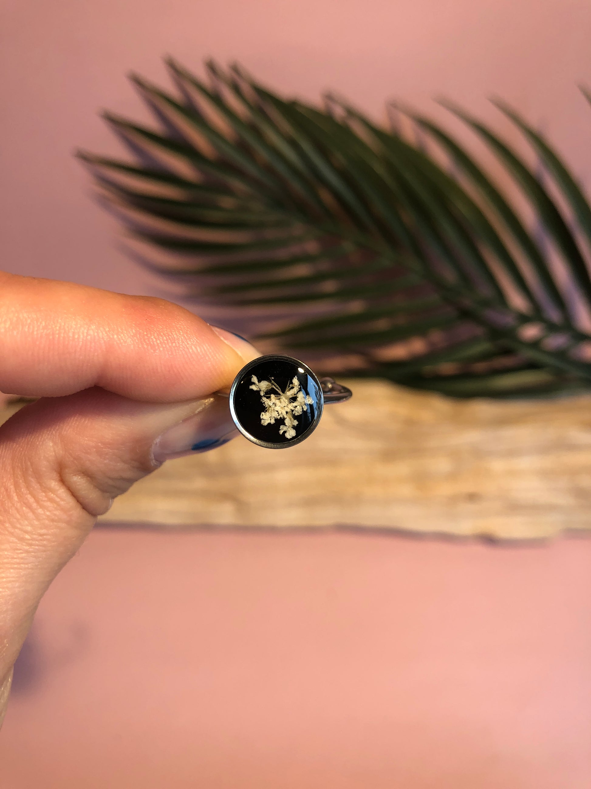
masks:
<svg viewBox="0 0 591 789"><path fill-rule="evenodd" d="M249 441L284 449L314 432L325 405L351 395L332 378L318 378L303 361L271 354L240 370L230 390L230 413Z"/></svg>

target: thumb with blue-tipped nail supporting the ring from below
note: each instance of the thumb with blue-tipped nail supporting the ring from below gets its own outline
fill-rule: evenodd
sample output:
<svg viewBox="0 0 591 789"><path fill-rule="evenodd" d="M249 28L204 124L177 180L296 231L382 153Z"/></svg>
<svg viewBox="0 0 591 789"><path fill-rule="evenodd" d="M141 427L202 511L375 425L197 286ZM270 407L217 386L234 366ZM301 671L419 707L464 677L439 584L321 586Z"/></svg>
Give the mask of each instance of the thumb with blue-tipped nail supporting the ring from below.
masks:
<svg viewBox="0 0 591 789"><path fill-rule="evenodd" d="M42 398L2 425L0 720L39 600L95 518L164 460L234 435L222 394L154 404L100 387Z"/></svg>

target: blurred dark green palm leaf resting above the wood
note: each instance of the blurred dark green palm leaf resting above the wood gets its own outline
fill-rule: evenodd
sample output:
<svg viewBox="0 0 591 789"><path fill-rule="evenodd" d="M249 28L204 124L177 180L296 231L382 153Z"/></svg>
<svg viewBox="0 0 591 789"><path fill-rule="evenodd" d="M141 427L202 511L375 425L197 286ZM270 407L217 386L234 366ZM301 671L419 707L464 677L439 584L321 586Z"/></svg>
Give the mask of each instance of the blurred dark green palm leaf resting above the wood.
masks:
<svg viewBox="0 0 591 789"><path fill-rule="evenodd" d="M591 386L591 208L515 111L498 103L548 187L449 107L496 155L547 243L428 118L412 121L434 152L334 97L321 111L238 67L209 63L201 80L168 65L178 97L132 77L160 130L105 114L136 163L79 155L143 260L188 298L249 316L259 342L326 373L455 396Z"/></svg>

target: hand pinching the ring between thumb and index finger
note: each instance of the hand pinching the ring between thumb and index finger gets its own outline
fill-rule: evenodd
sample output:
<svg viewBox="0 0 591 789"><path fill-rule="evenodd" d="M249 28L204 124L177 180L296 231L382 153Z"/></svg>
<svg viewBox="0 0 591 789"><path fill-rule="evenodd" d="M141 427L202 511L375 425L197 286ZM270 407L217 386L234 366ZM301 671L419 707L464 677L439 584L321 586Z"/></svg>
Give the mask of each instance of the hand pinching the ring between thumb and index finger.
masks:
<svg viewBox="0 0 591 789"><path fill-rule="evenodd" d="M227 397L258 356L161 299L0 272L0 724L39 600L113 498L237 434Z"/></svg>

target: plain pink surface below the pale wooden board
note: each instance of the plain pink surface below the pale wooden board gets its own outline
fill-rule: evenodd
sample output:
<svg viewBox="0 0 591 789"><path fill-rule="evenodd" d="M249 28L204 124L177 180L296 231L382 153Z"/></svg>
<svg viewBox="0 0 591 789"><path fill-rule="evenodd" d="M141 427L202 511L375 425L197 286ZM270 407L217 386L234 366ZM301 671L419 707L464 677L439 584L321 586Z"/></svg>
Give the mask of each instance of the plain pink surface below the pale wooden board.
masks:
<svg viewBox="0 0 591 789"><path fill-rule="evenodd" d="M589 789L591 540L102 529L51 587L2 789Z"/></svg>

